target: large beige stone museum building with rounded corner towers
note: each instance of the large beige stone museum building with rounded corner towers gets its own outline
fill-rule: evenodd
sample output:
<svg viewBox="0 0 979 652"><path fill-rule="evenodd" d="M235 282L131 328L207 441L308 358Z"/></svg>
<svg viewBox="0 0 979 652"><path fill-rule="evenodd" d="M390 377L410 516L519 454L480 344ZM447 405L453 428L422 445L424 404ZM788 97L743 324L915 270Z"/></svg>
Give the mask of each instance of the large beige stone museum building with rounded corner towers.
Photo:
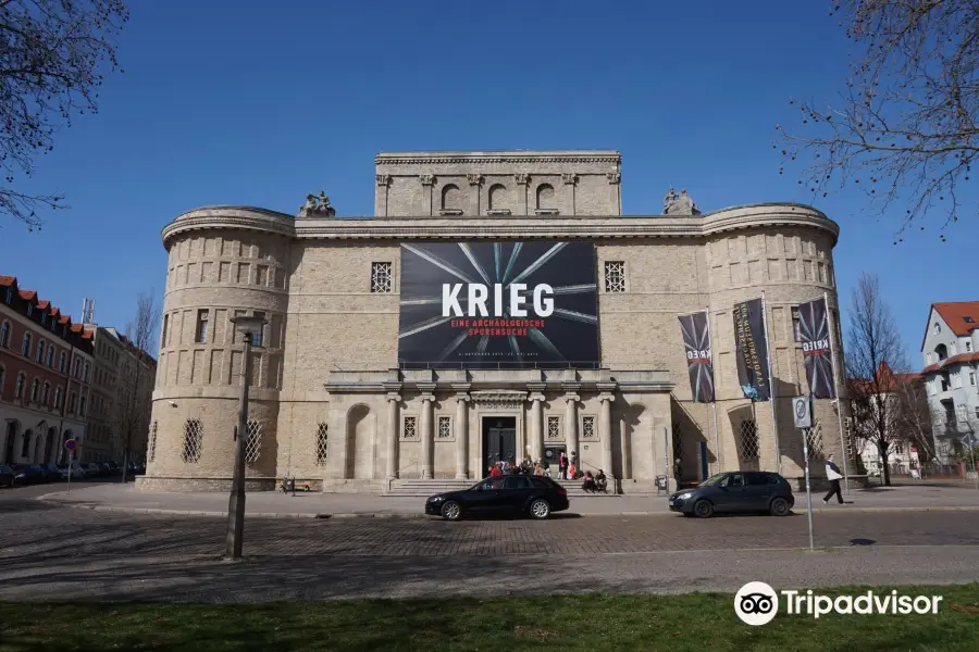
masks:
<svg viewBox="0 0 979 652"><path fill-rule="evenodd" d="M557 476L561 451L625 493L661 476L672 487L720 471L803 475L796 306L826 294L838 315L839 226L826 215L789 203L702 212L672 189L662 208L623 215L616 151L382 153L375 172L371 216L337 214L321 192L298 215L205 206L163 229L141 487L230 487L236 315L267 321L251 353L250 490L295 477L397 493L525 456ZM732 311L763 292L773 400L753 402ZM697 311L709 403L694 400L678 319ZM822 455L844 447L834 401L814 405L821 475Z"/></svg>

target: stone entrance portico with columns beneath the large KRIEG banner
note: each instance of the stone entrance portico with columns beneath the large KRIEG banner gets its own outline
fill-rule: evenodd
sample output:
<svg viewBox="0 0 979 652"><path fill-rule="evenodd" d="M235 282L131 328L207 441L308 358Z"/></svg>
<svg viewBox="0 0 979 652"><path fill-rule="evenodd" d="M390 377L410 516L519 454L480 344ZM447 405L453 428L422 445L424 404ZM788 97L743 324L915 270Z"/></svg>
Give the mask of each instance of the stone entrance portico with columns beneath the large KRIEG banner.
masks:
<svg viewBox="0 0 979 652"><path fill-rule="evenodd" d="M667 471L671 431L666 372L611 369L388 369L332 372L332 442L324 488L363 481L476 479L499 460L524 457L554 464L561 450L578 453L583 471L610 479L654 482ZM350 426L365 412L384 416L382 432ZM345 469L361 451L376 451L371 478ZM556 471L556 469L555 469ZM342 478L342 479L340 479Z"/></svg>

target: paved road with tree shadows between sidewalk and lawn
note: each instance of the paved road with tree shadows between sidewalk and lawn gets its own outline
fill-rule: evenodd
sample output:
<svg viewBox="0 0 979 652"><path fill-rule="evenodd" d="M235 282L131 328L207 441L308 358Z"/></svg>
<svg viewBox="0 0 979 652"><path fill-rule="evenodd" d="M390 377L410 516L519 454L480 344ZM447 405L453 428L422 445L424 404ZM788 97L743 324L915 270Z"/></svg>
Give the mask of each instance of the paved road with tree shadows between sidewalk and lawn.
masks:
<svg viewBox="0 0 979 652"><path fill-rule="evenodd" d="M240 563L216 518L91 512L0 492L0 599L253 601L950 584L975 579L979 528L943 512L444 523L251 519Z"/></svg>

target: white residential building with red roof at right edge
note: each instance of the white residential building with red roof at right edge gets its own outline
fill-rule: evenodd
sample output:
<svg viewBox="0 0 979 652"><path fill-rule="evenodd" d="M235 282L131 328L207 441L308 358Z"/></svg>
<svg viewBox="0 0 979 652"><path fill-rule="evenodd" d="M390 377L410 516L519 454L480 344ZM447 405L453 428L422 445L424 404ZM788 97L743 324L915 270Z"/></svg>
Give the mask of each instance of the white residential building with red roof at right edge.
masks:
<svg viewBox="0 0 979 652"><path fill-rule="evenodd" d="M979 301L932 303L921 375L932 414L939 461L979 446Z"/></svg>

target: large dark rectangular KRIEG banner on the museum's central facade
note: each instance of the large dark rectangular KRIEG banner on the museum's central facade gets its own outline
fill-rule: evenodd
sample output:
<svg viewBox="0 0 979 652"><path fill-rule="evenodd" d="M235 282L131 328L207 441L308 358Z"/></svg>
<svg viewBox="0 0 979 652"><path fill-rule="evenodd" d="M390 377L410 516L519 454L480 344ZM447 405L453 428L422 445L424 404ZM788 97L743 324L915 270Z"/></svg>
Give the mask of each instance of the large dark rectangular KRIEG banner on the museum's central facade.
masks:
<svg viewBox="0 0 979 652"><path fill-rule="evenodd" d="M597 366L596 278L592 242L401 244L398 362Z"/></svg>

